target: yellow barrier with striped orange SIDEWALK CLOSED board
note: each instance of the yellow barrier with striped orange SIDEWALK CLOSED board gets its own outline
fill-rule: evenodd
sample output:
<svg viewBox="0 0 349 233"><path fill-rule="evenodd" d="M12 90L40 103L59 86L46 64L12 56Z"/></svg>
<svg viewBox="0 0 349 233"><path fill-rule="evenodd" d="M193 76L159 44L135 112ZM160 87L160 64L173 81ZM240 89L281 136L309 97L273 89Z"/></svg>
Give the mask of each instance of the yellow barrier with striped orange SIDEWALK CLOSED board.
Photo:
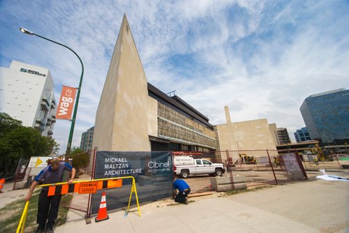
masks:
<svg viewBox="0 0 349 233"><path fill-rule="evenodd" d="M107 178L107 179L92 179L92 180L85 180L85 181L73 181L73 183L68 183L68 182L48 183L48 184L43 184L36 187L40 188L40 187L48 186L49 191L47 193L47 196L62 195L66 193L89 194L89 193L96 193L98 189L101 190L105 188L108 188L108 189L121 188L122 179L132 179L132 187L131 187L130 197L128 198L128 206L126 211L127 212L129 211L131 199L132 199L132 193L135 193L135 199L138 206L138 216L140 216L140 204L138 202L137 188L135 186L135 178L133 176L114 177L114 178ZM27 213L29 209L29 202L30 201L26 202L24 206L24 210L20 218L20 223L18 224L16 233L24 232L25 221L27 219Z"/></svg>

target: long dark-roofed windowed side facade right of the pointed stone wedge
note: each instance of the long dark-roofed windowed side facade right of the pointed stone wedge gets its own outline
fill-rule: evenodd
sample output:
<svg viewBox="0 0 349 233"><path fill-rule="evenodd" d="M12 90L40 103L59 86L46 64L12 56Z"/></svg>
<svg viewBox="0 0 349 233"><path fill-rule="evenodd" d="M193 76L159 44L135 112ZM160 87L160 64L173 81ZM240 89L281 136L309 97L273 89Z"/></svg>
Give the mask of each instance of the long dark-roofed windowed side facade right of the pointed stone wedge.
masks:
<svg viewBox="0 0 349 233"><path fill-rule="evenodd" d="M214 126L207 117L179 96L169 97L151 84L148 84L148 91L158 109L158 132L149 137L151 151L207 152L216 149Z"/></svg>

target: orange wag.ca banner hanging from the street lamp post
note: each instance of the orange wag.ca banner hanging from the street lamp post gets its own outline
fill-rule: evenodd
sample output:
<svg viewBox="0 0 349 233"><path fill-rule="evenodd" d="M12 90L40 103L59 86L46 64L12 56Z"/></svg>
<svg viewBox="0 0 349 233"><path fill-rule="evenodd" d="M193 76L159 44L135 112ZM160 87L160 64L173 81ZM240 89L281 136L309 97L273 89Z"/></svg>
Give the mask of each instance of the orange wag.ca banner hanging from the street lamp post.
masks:
<svg viewBox="0 0 349 233"><path fill-rule="evenodd" d="M56 113L56 119L70 120L73 112L76 88L63 86Z"/></svg>

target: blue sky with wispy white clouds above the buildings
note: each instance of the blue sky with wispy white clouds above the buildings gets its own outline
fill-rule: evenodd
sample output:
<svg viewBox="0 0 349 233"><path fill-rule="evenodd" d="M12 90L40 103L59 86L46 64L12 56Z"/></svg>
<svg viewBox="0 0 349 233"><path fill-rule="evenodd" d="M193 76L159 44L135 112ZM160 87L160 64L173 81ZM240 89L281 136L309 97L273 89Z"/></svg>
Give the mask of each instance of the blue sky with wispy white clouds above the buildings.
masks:
<svg viewBox="0 0 349 233"><path fill-rule="evenodd" d="M349 87L349 1L0 0L0 66L48 68L59 100L77 87L84 63L73 146L94 126L122 17L126 14L148 82L225 123L266 118L304 127L299 107L312 94ZM70 122L57 120L64 153Z"/></svg>

